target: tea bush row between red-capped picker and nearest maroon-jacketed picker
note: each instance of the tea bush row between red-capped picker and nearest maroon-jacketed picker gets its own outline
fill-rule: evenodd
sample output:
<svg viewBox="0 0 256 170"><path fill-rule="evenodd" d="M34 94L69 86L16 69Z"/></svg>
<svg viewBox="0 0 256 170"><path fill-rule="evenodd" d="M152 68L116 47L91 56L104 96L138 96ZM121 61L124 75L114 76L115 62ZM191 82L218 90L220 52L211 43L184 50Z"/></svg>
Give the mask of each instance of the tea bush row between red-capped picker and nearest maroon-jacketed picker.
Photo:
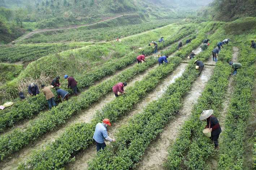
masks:
<svg viewBox="0 0 256 170"><path fill-rule="evenodd" d="M195 39L194 44L189 44L182 50L188 55L191 52L191 46L198 46L202 40L202 37ZM27 169L28 167L33 167L34 169L57 169L74 160L72 157L77 151L87 148L92 143L92 135L98 122L101 122L105 117L108 117L110 121L114 121L123 113L129 111L147 91L155 88L162 77L168 75L180 61L180 57L172 57L169 59L170 64L164 64L149 72L142 81L137 81L132 87L127 88L125 95L114 99L101 111L97 111L91 124L80 123L72 125L55 142L49 143L45 149L34 152L26 163L19 166L19 169Z"/></svg>

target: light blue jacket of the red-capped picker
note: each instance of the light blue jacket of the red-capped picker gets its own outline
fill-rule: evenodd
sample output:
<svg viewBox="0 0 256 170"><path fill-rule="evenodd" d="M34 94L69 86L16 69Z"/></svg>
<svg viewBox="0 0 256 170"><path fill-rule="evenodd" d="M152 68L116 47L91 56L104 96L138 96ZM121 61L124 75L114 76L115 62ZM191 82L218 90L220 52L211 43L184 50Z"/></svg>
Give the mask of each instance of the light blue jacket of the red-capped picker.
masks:
<svg viewBox="0 0 256 170"><path fill-rule="evenodd" d="M104 138L108 137L107 129L103 123L97 123L92 139L98 143L104 143Z"/></svg>

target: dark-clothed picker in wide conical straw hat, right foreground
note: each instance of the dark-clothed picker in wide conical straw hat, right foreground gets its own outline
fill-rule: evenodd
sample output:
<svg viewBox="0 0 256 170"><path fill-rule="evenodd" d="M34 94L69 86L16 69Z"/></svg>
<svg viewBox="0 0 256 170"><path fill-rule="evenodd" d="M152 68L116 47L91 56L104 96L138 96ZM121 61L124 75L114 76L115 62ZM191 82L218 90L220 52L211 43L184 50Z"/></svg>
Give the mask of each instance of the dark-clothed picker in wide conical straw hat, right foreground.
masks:
<svg viewBox="0 0 256 170"><path fill-rule="evenodd" d="M213 110L204 110L199 119L207 120L207 125L205 128L209 128L211 130L211 139L214 142L214 146L216 149L219 149L218 138L221 133L220 124L215 116L212 115Z"/></svg>

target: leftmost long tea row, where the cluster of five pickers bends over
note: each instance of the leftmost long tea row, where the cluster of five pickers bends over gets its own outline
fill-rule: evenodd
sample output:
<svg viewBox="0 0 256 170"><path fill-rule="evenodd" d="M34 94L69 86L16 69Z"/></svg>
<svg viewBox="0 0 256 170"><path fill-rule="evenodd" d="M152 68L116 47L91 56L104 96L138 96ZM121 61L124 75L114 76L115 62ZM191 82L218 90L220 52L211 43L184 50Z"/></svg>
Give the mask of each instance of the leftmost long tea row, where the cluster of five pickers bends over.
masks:
<svg viewBox="0 0 256 170"><path fill-rule="evenodd" d="M181 37L186 36L191 33L193 30L188 30L187 28L183 29L179 35L175 35L172 38L166 40L164 43L159 45L159 48L163 48L169 44L172 44L178 41ZM145 49L144 54L150 54L153 52L152 47L147 47ZM84 87L88 87L93 85L94 81L100 80L102 77L106 75L113 74L117 70L125 68L127 65L134 63L136 61L136 57L141 53L132 52L125 57L119 59L118 62L112 62L106 64L103 67L99 67L92 72L88 72L82 74L79 77L75 77L78 82L78 89L82 89ZM61 88L68 91L69 94L73 94L73 90L66 88L66 82L63 82ZM55 99L57 99L57 94L53 89L53 94L55 94ZM12 126L14 122L22 120L24 118L31 118L33 114L37 114L47 107L47 100L43 94L39 94L31 99L26 99L22 101L18 101L14 103L12 108L6 109L5 111L0 112L0 131L4 131L6 126Z"/></svg>

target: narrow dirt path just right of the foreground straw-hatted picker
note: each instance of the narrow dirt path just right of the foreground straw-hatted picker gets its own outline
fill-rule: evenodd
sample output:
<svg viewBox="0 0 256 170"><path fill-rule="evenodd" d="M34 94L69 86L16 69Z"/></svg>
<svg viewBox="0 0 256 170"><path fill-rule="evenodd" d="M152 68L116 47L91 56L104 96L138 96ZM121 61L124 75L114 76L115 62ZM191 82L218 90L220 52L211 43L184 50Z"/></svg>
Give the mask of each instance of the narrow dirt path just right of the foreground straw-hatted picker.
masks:
<svg viewBox="0 0 256 170"><path fill-rule="evenodd" d="M238 57L239 57L239 49L237 47L233 47L233 55L232 55L232 62L236 63L238 62ZM238 70L239 71L239 70ZM234 71L232 71L233 74ZM228 108L230 105L230 100L234 94L234 90L235 90L235 79L234 76L230 76L229 77L229 84L227 85L227 92L226 92L226 97L224 102L222 103L223 108L221 109L221 116L218 117L218 122L221 126L221 130L222 132L225 131L225 119L226 119L226 115L228 112ZM222 133L220 134L220 137L218 139L219 141L219 147L221 149L221 142L222 142ZM217 170L217 166L218 166L218 155L212 157L209 162L207 162L210 165L210 168L212 170Z"/></svg>

